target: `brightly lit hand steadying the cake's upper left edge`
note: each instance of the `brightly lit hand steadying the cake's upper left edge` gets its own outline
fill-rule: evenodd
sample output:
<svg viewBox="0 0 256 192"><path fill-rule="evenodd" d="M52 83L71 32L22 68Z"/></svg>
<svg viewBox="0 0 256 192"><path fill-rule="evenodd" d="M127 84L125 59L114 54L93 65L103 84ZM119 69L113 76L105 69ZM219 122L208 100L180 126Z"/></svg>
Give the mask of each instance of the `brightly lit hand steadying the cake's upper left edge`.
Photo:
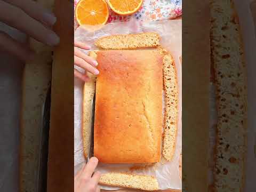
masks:
<svg viewBox="0 0 256 192"><path fill-rule="evenodd" d="M90 50L90 47L82 42L75 42L74 45L75 45L75 47L74 47L75 65L85 69L86 71L90 72L93 75L98 75L99 71L98 71L98 69L95 68L98 65L98 62L77 48L77 47L79 47L84 50ZM82 74L81 72L79 72L76 69L74 69L74 75L75 75L75 77L82 79L82 81L87 82L89 80L89 77L86 75L86 73Z"/></svg>

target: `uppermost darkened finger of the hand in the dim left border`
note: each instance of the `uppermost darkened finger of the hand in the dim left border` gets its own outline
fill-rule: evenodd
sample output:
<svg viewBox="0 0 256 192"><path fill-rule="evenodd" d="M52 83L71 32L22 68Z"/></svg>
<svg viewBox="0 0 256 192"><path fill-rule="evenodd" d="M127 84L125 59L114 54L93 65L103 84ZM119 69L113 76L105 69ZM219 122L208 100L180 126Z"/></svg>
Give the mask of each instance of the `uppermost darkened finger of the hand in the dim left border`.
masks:
<svg viewBox="0 0 256 192"><path fill-rule="evenodd" d="M56 17L50 11L44 9L40 4L31 0L4 0L14 6L20 7L24 12L26 12L30 17L33 17L37 21L45 23L45 25L53 26L56 22Z"/></svg>

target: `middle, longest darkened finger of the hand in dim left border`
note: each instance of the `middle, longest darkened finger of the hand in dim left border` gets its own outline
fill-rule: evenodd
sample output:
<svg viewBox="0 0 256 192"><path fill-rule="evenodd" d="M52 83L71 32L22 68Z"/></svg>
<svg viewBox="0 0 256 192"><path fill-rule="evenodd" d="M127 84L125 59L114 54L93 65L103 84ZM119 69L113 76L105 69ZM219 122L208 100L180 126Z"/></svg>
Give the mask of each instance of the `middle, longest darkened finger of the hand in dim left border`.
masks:
<svg viewBox="0 0 256 192"><path fill-rule="evenodd" d="M0 1L0 20L7 25L21 30L37 41L50 46L59 44L59 37L42 23L31 18L25 11L18 7Z"/></svg>

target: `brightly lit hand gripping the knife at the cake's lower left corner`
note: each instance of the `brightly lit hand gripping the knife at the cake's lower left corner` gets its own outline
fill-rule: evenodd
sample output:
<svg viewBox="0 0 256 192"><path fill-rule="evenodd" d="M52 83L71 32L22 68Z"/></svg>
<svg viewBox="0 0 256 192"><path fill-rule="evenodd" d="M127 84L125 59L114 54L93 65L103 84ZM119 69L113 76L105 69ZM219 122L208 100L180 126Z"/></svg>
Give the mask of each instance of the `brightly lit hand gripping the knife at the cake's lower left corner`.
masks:
<svg viewBox="0 0 256 192"><path fill-rule="evenodd" d="M74 180L75 192L100 192L98 183L101 173L99 171L94 172L97 165L98 159L96 157L92 157L89 162L84 165L82 170L76 174Z"/></svg>

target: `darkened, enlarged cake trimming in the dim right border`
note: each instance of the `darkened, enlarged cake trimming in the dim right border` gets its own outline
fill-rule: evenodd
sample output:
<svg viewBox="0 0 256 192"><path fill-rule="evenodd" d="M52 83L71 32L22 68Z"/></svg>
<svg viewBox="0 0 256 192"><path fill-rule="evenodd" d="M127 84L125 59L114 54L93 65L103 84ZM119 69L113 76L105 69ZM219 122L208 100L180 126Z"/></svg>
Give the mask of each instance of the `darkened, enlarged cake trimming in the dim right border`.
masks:
<svg viewBox="0 0 256 192"><path fill-rule="evenodd" d="M211 0L211 60L217 98L214 191L244 191L246 73L241 29L230 0Z"/></svg>

